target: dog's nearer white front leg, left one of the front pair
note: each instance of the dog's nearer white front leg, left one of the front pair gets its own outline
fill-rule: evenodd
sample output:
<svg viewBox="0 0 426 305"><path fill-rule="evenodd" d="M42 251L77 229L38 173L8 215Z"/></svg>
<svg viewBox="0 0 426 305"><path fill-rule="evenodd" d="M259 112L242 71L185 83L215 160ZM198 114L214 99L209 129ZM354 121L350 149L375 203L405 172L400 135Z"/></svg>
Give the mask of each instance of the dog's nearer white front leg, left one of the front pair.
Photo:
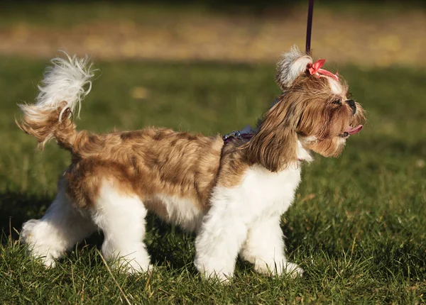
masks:
<svg viewBox="0 0 426 305"><path fill-rule="evenodd" d="M195 266L205 278L226 282L234 275L236 257L246 240L247 226L234 202L218 201L203 219L195 240Z"/></svg>

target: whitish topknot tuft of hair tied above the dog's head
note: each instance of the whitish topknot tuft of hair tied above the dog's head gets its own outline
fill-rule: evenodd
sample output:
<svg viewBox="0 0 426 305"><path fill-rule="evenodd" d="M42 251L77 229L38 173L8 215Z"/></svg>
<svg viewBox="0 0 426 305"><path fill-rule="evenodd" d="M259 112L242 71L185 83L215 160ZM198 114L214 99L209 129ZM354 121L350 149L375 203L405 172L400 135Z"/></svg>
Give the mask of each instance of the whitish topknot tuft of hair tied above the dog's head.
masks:
<svg viewBox="0 0 426 305"><path fill-rule="evenodd" d="M306 72L309 64L312 64L312 57L301 52L297 46L293 45L288 52L285 52L277 63L275 75L275 81L281 90L289 89L297 77Z"/></svg>

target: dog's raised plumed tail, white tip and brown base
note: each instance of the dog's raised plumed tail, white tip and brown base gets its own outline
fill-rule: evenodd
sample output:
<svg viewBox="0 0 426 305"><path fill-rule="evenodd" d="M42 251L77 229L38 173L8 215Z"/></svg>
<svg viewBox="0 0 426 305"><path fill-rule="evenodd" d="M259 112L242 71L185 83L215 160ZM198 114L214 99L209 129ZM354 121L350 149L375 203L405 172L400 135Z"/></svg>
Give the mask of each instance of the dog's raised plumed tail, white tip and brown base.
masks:
<svg viewBox="0 0 426 305"><path fill-rule="evenodd" d="M23 118L16 124L33 135L42 148L55 138L62 148L72 150L77 138L72 118L75 111L80 116L80 103L92 88L94 70L88 57L65 55L53 58L53 66L46 68L35 104L19 105Z"/></svg>

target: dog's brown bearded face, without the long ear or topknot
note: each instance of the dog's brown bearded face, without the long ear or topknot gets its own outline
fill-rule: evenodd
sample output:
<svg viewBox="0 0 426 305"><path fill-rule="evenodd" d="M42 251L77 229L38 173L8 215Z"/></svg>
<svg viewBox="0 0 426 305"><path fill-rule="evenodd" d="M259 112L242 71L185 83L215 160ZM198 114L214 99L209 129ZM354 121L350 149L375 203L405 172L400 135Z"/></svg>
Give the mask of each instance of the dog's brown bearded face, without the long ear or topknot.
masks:
<svg viewBox="0 0 426 305"><path fill-rule="evenodd" d="M305 148L324 157L337 157L346 139L361 131L364 110L348 97L341 79L315 75L300 77L287 101L297 113L295 132Z"/></svg>

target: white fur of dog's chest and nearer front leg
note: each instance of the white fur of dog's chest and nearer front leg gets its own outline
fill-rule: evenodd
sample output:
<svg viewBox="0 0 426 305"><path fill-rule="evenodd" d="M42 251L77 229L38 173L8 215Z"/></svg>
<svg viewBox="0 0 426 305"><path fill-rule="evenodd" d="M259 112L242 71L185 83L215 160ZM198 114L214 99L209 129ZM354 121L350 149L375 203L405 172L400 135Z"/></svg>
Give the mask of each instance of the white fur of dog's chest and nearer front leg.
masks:
<svg viewBox="0 0 426 305"><path fill-rule="evenodd" d="M212 206L195 241L197 269L206 277L216 275L221 280L233 275L236 256L248 237L249 229L261 218L271 218L287 211L299 182L300 167L288 167L277 173L253 165L240 185L215 187ZM275 229L274 232L278 234ZM274 240L279 240L280 236ZM280 247L280 244L271 247ZM268 250L268 253L271 254L271 251ZM280 260L283 255L279 256ZM262 257L262 260L270 263L274 257Z"/></svg>

